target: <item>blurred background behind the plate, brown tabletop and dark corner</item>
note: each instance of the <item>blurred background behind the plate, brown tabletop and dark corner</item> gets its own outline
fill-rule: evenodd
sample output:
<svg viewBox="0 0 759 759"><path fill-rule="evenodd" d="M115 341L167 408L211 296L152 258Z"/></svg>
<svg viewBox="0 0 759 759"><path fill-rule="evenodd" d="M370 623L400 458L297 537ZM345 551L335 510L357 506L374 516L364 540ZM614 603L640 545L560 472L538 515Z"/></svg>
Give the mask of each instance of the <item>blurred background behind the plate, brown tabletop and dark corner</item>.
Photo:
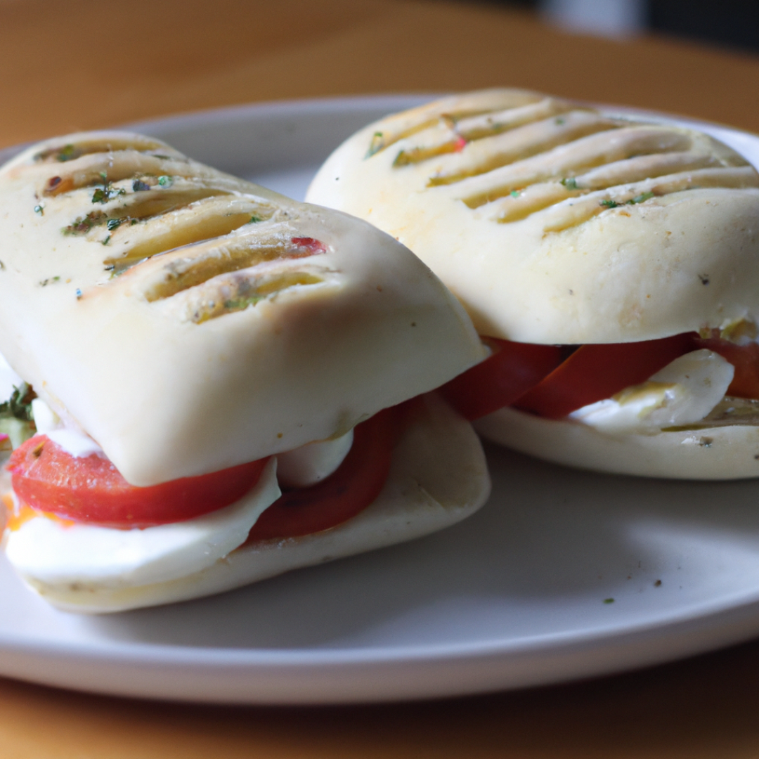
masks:
<svg viewBox="0 0 759 759"><path fill-rule="evenodd" d="M504 86L759 132L759 0L0 0L0 148L238 103Z"/></svg>

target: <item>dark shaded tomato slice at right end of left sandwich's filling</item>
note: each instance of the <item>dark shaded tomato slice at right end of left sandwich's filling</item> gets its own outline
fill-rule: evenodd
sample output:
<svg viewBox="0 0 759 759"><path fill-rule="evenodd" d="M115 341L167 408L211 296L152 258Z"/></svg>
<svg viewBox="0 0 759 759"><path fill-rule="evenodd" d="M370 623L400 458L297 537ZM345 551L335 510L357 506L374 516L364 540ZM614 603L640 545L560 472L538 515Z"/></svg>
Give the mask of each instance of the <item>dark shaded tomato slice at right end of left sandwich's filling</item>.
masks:
<svg viewBox="0 0 759 759"><path fill-rule="evenodd" d="M283 493L260 515L244 544L310 535L366 509L387 480L399 411L386 408L357 425L342 464L316 485Z"/></svg>

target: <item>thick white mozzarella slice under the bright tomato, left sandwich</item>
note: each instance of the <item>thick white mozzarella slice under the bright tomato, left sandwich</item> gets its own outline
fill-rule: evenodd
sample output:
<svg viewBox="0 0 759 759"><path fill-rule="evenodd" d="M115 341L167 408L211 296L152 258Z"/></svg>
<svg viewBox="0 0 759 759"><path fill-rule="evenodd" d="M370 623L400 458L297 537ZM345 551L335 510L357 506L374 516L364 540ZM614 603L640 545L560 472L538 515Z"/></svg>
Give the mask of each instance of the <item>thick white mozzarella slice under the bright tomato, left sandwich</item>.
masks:
<svg viewBox="0 0 759 759"><path fill-rule="evenodd" d="M272 458L247 496L211 514L143 530L39 516L6 531L5 550L20 575L58 586L118 588L166 582L200 572L241 546L279 496Z"/></svg>

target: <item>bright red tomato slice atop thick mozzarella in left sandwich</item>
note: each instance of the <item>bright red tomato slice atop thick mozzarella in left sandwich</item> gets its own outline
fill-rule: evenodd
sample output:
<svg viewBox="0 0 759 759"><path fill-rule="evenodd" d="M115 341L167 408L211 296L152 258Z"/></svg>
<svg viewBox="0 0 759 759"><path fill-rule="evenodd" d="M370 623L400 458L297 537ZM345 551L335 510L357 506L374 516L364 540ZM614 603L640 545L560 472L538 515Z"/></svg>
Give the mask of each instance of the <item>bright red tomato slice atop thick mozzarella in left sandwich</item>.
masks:
<svg viewBox="0 0 759 759"><path fill-rule="evenodd" d="M45 435L12 454L8 469L16 495L33 509L104 527L152 527L184 521L241 499L267 459L199 477L134 487L106 458L77 458Z"/></svg>

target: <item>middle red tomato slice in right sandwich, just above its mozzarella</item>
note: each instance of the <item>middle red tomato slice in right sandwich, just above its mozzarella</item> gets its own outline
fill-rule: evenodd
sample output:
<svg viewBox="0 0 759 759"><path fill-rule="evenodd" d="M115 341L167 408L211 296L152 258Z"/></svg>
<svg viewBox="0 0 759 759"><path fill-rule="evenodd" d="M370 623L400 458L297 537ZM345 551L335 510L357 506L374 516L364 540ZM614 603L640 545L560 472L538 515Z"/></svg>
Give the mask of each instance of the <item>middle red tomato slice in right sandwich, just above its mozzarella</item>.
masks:
<svg viewBox="0 0 759 759"><path fill-rule="evenodd" d="M645 382L670 361L694 350L694 334L659 340L582 345L514 404L547 419L560 419L589 403Z"/></svg>

